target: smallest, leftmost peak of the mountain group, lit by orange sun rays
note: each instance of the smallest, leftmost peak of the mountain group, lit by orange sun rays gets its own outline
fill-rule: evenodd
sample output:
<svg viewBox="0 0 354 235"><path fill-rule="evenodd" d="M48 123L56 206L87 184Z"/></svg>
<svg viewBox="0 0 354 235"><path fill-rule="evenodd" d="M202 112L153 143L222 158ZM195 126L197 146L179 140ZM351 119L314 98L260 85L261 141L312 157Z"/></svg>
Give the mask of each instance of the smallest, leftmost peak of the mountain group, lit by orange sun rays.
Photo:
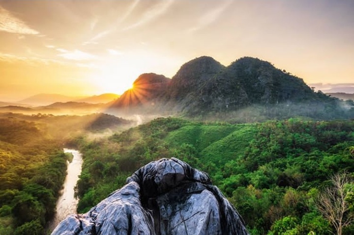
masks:
<svg viewBox="0 0 354 235"><path fill-rule="evenodd" d="M153 106L154 100L160 99L171 79L154 73L142 74L134 82L133 88L125 91L111 108L132 108L141 105Z"/></svg>

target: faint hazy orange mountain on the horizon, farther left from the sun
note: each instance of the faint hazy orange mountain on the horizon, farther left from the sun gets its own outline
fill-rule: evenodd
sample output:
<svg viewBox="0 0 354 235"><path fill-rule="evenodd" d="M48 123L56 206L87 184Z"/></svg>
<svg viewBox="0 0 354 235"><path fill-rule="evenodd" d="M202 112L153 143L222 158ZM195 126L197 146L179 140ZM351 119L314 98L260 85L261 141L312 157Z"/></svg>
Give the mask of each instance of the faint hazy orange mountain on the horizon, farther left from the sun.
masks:
<svg viewBox="0 0 354 235"><path fill-rule="evenodd" d="M83 97L81 97L81 98L80 97L70 97L70 96L64 96L64 95L59 95L59 94L38 94L38 95L31 96L29 98L26 98L24 100L18 101L16 103L40 106L40 105L53 104L55 102L69 102L69 101L77 100L77 99L83 99Z"/></svg>

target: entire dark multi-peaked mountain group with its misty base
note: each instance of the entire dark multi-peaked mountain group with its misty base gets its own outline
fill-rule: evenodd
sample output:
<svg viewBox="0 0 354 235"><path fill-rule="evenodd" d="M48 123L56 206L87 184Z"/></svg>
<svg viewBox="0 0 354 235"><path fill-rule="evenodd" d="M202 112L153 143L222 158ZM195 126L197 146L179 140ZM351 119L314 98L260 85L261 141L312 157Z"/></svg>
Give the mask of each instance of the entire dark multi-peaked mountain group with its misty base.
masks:
<svg viewBox="0 0 354 235"><path fill-rule="evenodd" d="M112 103L108 113L247 116L243 120L354 117L351 104L344 110L339 99L315 92L301 78L258 58L242 57L225 67L212 57L202 56L183 64L172 79L143 74L138 81L145 82L144 89L134 85ZM246 111L236 113L240 110Z"/></svg>

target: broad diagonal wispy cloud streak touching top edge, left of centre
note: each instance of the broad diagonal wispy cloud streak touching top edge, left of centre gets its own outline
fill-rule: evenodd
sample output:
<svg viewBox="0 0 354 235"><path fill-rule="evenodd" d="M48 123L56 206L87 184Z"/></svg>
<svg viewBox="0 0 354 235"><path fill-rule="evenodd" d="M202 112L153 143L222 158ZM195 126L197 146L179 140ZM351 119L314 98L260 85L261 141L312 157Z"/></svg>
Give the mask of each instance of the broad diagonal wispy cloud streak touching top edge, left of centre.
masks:
<svg viewBox="0 0 354 235"><path fill-rule="evenodd" d="M172 5L172 3L174 1L175 0L164 0L164 1L161 1L160 3L156 4L154 7L149 9L145 14L143 14L143 16L141 17L141 19L138 22L123 28L123 31L124 30L129 30L129 29L132 29L132 28L135 28L135 27L138 27L138 26L142 26L142 25L145 25L145 24L149 23L153 19L155 19L158 16L164 14L168 10L168 8Z"/></svg>

